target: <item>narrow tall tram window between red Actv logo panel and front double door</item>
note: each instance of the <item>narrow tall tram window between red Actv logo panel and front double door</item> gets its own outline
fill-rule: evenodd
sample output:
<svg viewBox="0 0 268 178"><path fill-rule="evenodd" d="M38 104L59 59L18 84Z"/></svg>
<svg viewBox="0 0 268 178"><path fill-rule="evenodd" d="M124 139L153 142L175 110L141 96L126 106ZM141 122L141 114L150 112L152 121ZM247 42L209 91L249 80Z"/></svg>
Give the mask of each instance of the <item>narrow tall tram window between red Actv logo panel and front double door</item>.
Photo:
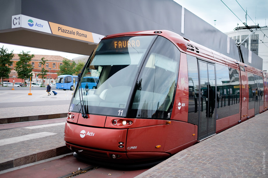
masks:
<svg viewBox="0 0 268 178"><path fill-rule="evenodd" d="M199 80L197 59L194 56L187 55L188 66L188 84L189 84L189 105L188 122L198 125L199 111Z"/></svg>

